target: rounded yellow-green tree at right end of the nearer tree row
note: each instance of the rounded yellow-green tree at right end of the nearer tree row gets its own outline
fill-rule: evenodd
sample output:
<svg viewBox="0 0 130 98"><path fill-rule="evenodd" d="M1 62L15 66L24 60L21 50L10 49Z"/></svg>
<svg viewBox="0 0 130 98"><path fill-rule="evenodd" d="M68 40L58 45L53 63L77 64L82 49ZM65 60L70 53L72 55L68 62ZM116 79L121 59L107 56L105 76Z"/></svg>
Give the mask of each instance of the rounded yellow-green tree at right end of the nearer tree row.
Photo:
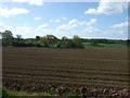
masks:
<svg viewBox="0 0 130 98"><path fill-rule="evenodd" d="M73 37L73 42L75 48L83 48L83 44L81 41L81 38L77 35Z"/></svg>

